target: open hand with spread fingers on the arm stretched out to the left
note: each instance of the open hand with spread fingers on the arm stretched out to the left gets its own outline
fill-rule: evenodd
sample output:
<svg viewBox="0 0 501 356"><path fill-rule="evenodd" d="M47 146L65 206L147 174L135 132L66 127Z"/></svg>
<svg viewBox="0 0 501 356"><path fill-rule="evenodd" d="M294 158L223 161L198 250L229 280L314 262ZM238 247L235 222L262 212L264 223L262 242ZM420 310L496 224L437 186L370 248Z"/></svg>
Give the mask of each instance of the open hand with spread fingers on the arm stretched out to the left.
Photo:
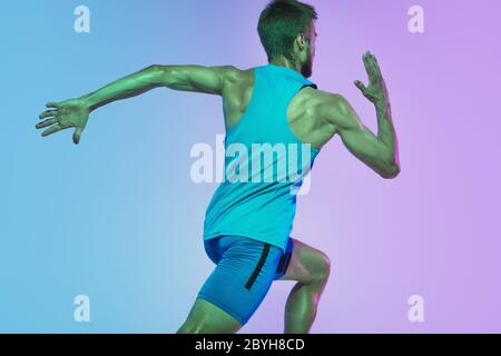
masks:
<svg viewBox="0 0 501 356"><path fill-rule="evenodd" d="M47 107L52 109L46 110L39 116L40 119L46 120L35 126L37 129L49 127L41 132L41 136L49 136L75 127L73 144L77 145L89 119L89 109L84 100L69 99L60 102L49 102Z"/></svg>

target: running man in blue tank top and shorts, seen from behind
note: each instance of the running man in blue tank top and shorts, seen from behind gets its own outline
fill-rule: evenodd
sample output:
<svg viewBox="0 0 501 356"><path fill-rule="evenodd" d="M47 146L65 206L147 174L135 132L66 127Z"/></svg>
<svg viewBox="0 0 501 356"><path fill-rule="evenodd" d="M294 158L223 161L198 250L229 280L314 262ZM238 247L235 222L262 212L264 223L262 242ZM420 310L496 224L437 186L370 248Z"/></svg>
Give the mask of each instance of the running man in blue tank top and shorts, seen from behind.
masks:
<svg viewBox="0 0 501 356"><path fill-rule="evenodd" d="M355 81L375 106L374 135L341 95L318 90L306 79L312 75L315 56L316 19L308 4L272 1L258 22L267 66L246 70L233 66L150 66L80 98L49 102L51 109L40 115L46 120L36 127L48 128L42 136L75 127L72 139L78 144L91 111L153 88L168 87L223 98L226 174L235 162L261 162L261 154L228 155L234 145L306 146L310 150L304 155L307 159L303 168L307 170L321 148L340 135L356 158L383 178L394 178L400 172L397 140L377 61L365 53L370 85ZM297 154L294 149L293 154ZM267 168L277 168L286 159L284 155L274 156ZM259 166L247 176L250 181L224 180L210 200L204 246L216 268L178 333L236 333L255 313L274 280L297 281L286 301L284 332L310 332L331 265L324 253L288 235L296 207L292 188L301 186L304 171L295 180L255 181L262 172Z"/></svg>

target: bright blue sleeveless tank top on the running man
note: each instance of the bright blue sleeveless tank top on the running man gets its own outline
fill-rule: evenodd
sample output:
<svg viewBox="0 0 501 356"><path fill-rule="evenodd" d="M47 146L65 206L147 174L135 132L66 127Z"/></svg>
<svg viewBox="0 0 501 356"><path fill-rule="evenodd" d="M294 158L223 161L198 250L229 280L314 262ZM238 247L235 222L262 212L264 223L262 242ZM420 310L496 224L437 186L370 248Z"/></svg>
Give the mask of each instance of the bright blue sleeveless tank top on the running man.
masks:
<svg viewBox="0 0 501 356"><path fill-rule="evenodd" d="M224 179L207 207L204 240L238 235L286 249L296 194L320 150L299 141L287 107L304 87L317 86L297 71L254 68L248 107L225 137Z"/></svg>

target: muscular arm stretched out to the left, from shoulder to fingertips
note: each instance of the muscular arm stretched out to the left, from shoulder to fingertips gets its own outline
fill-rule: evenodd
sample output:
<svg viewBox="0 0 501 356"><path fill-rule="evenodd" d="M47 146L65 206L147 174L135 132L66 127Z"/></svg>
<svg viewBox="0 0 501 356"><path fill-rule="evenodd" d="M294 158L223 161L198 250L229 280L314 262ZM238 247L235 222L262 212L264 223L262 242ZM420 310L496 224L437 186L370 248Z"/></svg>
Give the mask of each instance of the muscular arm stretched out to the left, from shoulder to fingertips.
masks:
<svg viewBox="0 0 501 356"><path fill-rule="evenodd" d="M157 87L223 95L230 75L235 71L237 69L232 66L150 66L80 98L47 103L50 109L39 117L46 120L37 123L36 128L48 127L41 134L48 136L75 127L73 142L78 144L89 113L101 106L138 96Z"/></svg>

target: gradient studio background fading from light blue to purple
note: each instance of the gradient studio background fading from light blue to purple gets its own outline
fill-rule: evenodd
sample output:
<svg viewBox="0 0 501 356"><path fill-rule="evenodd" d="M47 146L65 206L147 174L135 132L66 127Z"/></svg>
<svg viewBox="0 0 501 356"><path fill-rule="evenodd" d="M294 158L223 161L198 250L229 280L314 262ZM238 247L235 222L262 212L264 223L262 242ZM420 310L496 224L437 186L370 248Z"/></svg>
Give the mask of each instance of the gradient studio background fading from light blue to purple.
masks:
<svg viewBox="0 0 501 356"><path fill-rule="evenodd" d="M41 138L47 101L160 65L266 63L267 3L235 0L2 1L0 332L175 333L213 269L203 244L216 184L195 185L189 149L224 134L217 97L153 90ZM333 261L312 333L501 332L498 0L310 0L320 13L314 75L376 129L353 86L361 55L382 66L402 174L384 180L338 138L299 197L293 236ZM90 33L73 9L90 8ZM411 34L407 10L425 11ZM279 281L240 333L282 333ZM91 322L73 322L73 297ZM424 297L424 323L407 298Z"/></svg>

